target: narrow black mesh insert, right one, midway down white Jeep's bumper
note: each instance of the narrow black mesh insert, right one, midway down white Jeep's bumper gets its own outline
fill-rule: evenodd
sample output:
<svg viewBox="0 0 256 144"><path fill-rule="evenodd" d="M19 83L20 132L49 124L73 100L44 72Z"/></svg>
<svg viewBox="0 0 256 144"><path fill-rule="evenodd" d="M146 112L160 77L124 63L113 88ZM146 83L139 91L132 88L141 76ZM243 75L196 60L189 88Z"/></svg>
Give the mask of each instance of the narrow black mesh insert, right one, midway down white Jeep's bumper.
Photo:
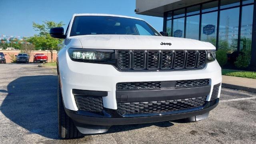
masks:
<svg viewBox="0 0 256 144"><path fill-rule="evenodd" d="M209 79L199 80L178 80L175 87L191 87L191 86L208 86L210 84Z"/></svg>

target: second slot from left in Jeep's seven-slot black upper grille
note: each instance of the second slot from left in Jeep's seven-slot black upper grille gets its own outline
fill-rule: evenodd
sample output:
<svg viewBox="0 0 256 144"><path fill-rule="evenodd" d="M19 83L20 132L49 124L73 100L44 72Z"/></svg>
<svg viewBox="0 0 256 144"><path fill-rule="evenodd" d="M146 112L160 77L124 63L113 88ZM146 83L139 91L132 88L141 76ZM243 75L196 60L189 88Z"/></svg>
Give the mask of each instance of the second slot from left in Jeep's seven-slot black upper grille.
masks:
<svg viewBox="0 0 256 144"><path fill-rule="evenodd" d="M145 63L145 52L144 50L134 50L133 51L133 69L142 70L144 69Z"/></svg>

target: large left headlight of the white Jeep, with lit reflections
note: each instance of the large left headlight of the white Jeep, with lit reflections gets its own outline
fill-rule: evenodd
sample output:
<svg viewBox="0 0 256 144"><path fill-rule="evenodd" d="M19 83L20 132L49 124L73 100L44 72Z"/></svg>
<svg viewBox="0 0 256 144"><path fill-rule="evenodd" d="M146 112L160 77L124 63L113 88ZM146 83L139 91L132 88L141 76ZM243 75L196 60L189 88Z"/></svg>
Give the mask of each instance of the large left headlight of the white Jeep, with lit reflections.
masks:
<svg viewBox="0 0 256 144"><path fill-rule="evenodd" d="M74 61L115 63L114 50L70 48L68 53L70 58Z"/></svg>

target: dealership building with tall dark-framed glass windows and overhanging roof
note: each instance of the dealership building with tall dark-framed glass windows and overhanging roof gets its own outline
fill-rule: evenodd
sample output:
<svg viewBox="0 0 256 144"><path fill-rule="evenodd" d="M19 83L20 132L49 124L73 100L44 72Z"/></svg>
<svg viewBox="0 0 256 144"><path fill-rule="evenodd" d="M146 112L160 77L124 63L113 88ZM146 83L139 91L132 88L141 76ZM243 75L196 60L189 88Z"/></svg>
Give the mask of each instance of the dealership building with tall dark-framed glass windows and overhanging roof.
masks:
<svg viewBox="0 0 256 144"><path fill-rule="evenodd" d="M248 53L256 67L256 0L136 0L135 12L164 18L169 36Z"/></svg>

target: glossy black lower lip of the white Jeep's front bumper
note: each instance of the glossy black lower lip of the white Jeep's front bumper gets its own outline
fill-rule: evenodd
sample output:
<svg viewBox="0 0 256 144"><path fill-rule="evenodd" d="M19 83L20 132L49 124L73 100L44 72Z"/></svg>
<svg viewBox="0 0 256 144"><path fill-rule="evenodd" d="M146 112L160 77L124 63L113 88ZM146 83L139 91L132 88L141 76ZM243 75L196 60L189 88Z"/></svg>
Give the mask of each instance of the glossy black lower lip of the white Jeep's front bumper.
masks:
<svg viewBox="0 0 256 144"><path fill-rule="evenodd" d="M129 117L122 117L116 110L105 108L103 114L95 114L86 111L72 111L65 109L66 114L74 120L76 125L83 124L113 126L122 124L141 124L150 122L163 122L168 120L178 120L182 118L189 118L192 116L199 116L208 113L218 105L219 99L211 102L206 102L203 106L192 108L188 110L178 110L174 112L157 113L147 116L130 115Z"/></svg>

